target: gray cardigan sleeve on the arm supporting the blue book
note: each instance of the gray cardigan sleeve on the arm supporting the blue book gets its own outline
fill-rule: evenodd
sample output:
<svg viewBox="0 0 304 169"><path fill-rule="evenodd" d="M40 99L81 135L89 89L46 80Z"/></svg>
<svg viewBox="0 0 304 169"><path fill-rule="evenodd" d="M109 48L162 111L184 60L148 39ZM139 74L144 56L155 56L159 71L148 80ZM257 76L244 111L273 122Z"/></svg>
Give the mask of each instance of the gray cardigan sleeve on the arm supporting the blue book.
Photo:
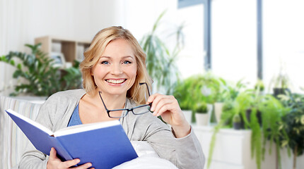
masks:
<svg viewBox="0 0 304 169"><path fill-rule="evenodd" d="M52 132L66 127L79 99L85 93L83 89L75 89L57 92L49 96L49 99L40 108L35 121ZM48 156L29 143L21 157L19 168L47 168L47 161Z"/></svg>

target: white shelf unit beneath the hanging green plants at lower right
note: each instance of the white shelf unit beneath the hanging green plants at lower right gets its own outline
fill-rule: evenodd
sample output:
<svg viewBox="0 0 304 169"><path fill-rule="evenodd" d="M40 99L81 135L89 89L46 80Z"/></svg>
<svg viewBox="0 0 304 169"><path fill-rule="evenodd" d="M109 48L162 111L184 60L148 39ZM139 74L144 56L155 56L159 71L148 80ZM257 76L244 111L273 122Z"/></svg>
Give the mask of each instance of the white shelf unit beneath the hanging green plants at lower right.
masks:
<svg viewBox="0 0 304 169"><path fill-rule="evenodd" d="M197 126L192 124L193 130L201 142L201 147L206 157L205 167L209 157L213 126ZM255 158L251 158L251 130L221 129L216 134L216 144L210 169L256 169ZM270 144L266 144L265 159L261 169L276 169L276 148L271 146L272 154L269 155ZM288 157L286 149L281 149L282 169L293 166L293 156ZM304 155L297 158L297 169L304 168Z"/></svg>

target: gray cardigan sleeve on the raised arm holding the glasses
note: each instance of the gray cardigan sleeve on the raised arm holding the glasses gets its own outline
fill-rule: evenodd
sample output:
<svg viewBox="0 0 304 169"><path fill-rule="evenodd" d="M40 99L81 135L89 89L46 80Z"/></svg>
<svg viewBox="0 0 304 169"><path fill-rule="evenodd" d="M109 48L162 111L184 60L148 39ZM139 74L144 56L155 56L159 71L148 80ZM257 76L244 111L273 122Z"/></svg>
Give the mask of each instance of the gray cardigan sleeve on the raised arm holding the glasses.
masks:
<svg viewBox="0 0 304 169"><path fill-rule="evenodd" d="M177 168L204 168L204 153L192 128L186 137L175 138L168 125L146 114L136 119L133 131L132 140L148 142L160 158L171 161Z"/></svg>

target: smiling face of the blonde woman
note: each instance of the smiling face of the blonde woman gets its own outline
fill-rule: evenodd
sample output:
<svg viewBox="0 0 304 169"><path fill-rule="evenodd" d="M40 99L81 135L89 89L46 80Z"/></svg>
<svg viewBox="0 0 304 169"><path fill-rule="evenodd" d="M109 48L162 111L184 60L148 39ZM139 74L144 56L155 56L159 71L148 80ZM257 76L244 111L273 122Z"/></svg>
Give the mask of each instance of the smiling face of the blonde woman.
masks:
<svg viewBox="0 0 304 169"><path fill-rule="evenodd" d="M105 47L92 75L98 90L103 94L127 95L136 79L136 58L125 39L115 39Z"/></svg>

